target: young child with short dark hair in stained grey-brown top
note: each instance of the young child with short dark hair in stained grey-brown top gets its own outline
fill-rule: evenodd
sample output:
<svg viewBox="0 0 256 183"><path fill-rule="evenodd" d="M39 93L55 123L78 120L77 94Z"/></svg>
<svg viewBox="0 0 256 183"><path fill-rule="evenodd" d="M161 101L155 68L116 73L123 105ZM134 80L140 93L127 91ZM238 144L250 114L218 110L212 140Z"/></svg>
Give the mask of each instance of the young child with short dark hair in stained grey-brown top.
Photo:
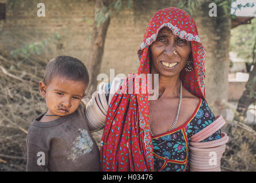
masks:
<svg viewBox="0 0 256 183"><path fill-rule="evenodd" d="M100 152L92 138L81 101L88 70L73 57L53 58L40 81L48 110L27 133L27 171L100 171Z"/></svg>

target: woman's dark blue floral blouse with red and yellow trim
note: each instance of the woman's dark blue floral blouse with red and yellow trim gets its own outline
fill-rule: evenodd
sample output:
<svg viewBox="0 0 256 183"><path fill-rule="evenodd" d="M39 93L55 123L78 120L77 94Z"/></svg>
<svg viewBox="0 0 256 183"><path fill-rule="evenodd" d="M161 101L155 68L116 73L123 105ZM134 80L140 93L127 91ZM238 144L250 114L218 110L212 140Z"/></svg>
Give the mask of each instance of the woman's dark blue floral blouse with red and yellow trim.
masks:
<svg viewBox="0 0 256 183"><path fill-rule="evenodd" d="M206 101L200 99L194 113L182 126L152 137L155 171L180 172L188 170L190 137L215 121ZM204 141L220 138L220 130Z"/></svg>

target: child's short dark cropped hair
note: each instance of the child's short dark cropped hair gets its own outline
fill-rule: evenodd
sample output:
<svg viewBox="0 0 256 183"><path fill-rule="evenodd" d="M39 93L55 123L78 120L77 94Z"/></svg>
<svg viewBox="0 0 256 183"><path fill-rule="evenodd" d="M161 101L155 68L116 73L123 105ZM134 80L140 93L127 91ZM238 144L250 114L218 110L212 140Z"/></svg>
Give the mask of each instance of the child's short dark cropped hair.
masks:
<svg viewBox="0 0 256 183"><path fill-rule="evenodd" d="M60 76L74 81L89 83L89 74L84 63L74 57L58 56L49 61L45 69L44 83L48 85L53 77Z"/></svg>

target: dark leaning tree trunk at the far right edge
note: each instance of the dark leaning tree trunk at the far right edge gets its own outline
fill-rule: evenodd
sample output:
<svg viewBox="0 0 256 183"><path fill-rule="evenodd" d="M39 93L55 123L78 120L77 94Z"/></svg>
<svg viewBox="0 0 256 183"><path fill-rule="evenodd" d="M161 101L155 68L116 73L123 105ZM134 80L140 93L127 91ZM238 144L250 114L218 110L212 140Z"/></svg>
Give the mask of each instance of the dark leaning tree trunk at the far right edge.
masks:
<svg viewBox="0 0 256 183"><path fill-rule="evenodd" d="M246 112L256 98L256 59L255 59L255 49L256 49L256 38L253 47L253 70L249 73L249 79L245 86L245 91L242 97L238 101L237 112L235 114L235 120L243 121L246 117Z"/></svg>

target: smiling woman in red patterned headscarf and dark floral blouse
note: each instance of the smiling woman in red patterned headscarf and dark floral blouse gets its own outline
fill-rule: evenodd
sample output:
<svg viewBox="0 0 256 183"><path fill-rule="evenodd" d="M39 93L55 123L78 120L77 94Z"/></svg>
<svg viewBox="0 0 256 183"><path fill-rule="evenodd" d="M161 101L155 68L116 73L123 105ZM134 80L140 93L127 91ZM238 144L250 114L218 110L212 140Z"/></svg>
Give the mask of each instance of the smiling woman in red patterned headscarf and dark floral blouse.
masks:
<svg viewBox="0 0 256 183"><path fill-rule="evenodd" d="M159 74L159 96L149 100L148 92L125 93L129 79L120 84L123 92L109 96L101 142L103 171L188 170L191 136L215 121L205 100L205 54L186 11L157 11L138 51L137 74ZM200 141L220 137L217 128Z"/></svg>

